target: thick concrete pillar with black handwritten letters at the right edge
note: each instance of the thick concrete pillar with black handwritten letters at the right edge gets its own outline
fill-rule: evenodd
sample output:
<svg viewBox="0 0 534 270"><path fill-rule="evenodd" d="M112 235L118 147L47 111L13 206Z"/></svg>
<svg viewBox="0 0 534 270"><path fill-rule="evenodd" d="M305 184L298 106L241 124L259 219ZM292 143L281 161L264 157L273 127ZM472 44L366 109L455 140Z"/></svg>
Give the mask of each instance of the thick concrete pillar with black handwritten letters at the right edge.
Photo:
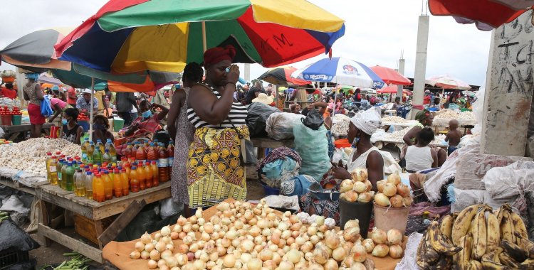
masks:
<svg viewBox="0 0 534 270"><path fill-rule="evenodd" d="M532 103L532 11L493 31L486 73L481 153L524 156Z"/></svg>

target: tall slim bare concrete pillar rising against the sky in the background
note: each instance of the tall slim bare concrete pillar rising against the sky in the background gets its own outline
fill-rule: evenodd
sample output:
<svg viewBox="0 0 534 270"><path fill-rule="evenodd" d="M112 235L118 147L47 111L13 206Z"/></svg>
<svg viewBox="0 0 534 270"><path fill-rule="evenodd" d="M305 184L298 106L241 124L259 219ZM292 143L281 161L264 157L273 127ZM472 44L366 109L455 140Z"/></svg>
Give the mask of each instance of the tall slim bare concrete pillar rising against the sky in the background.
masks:
<svg viewBox="0 0 534 270"><path fill-rule="evenodd" d="M415 72L414 72L414 99L412 104L422 105L424 97L424 77L426 76L426 51L429 43L429 23L430 17L427 15L419 16L419 25L417 26L417 53L415 55ZM418 109L412 109L412 119Z"/></svg>

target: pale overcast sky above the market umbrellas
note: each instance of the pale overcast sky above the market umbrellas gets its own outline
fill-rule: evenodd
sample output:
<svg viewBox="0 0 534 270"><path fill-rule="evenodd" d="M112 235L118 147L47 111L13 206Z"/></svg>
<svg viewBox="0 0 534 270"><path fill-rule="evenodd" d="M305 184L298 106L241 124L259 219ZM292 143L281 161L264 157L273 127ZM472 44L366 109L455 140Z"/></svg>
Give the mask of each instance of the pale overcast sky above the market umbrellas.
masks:
<svg viewBox="0 0 534 270"><path fill-rule="evenodd" d="M400 52L404 50L405 75L413 77L421 1L310 1L345 19L345 36L334 44L333 56L351 58L368 66L397 68ZM2 6L0 48L32 31L78 26L105 2L9 1ZM458 24L449 16L431 16L426 77L448 74L471 85L483 84L490 39L491 32L478 31L473 25ZM325 57L320 55L293 66L301 68ZM0 70L6 69L14 70L14 67L1 63ZM260 65L253 65L251 79L265 71Z"/></svg>

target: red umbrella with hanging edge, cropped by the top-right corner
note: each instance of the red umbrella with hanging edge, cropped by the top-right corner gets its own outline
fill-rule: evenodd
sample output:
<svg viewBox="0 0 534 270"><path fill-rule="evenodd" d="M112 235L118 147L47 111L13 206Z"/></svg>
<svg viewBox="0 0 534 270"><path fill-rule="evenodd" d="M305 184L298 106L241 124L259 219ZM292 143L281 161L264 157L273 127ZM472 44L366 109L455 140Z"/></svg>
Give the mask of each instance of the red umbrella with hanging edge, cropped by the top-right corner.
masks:
<svg viewBox="0 0 534 270"><path fill-rule="evenodd" d="M475 23L479 30L491 31L509 23L534 5L533 0L429 0L434 16L454 16L458 23Z"/></svg>

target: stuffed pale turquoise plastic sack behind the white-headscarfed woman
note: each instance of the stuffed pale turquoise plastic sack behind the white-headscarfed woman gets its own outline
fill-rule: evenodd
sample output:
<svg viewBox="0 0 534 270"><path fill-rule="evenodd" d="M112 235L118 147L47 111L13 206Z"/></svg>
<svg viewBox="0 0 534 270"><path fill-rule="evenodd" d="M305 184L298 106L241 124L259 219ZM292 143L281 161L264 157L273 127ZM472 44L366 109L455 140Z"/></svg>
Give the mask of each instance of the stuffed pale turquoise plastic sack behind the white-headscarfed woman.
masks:
<svg viewBox="0 0 534 270"><path fill-rule="evenodd" d="M313 130L304 126L300 120L293 124L293 135L298 138L295 139L295 151L302 158L300 174L310 175L315 179L323 179L323 175L330 170L331 166L325 126Z"/></svg>

